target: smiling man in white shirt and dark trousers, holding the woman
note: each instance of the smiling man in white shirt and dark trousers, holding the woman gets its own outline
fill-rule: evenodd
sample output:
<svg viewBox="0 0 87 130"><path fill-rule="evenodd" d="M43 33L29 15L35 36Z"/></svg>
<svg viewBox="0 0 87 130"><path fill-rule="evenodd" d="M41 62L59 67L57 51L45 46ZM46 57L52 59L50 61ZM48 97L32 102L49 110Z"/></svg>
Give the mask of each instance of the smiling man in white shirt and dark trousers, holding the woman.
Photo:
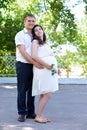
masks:
<svg viewBox="0 0 87 130"><path fill-rule="evenodd" d="M17 108L19 114L18 121L20 122L24 122L26 118L35 118L36 116L35 97L32 97L33 64L38 68L41 68L41 66L31 58L31 30L35 24L35 16L27 14L24 18L25 28L15 36Z"/></svg>

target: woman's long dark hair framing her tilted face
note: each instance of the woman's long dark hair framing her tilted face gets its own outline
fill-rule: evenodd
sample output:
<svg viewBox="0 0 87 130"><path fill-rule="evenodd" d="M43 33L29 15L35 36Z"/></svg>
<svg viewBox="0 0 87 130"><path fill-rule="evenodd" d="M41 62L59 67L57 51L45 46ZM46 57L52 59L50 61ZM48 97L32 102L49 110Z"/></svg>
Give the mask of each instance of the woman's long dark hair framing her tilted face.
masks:
<svg viewBox="0 0 87 130"><path fill-rule="evenodd" d="M36 34L35 34L35 28L36 27L40 27L42 30L43 30L43 28L42 28L42 26L40 26L40 25L35 25L33 28L32 28L32 36L33 36L33 40L38 40L38 43L39 43L39 45L43 45L43 44L45 44L46 43L46 35L45 35L45 32L44 32L44 30L43 30L43 41L38 37L38 36L36 36Z"/></svg>

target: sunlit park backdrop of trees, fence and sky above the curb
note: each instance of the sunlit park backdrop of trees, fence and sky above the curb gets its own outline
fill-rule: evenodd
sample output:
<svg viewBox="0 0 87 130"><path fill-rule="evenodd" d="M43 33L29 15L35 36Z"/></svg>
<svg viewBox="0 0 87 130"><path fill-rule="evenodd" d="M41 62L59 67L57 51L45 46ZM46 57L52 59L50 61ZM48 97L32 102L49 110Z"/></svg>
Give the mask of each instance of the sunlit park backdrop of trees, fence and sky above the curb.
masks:
<svg viewBox="0 0 87 130"><path fill-rule="evenodd" d="M15 41L25 14L33 13L54 50L59 78L87 78L86 0L1 0L0 77L16 77Z"/></svg>

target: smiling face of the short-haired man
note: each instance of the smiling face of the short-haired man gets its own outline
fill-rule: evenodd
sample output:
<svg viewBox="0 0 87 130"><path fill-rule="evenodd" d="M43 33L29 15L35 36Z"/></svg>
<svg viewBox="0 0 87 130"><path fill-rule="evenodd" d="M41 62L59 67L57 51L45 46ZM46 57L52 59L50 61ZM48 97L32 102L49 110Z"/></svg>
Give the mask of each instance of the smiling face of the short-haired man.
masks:
<svg viewBox="0 0 87 130"><path fill-rule="evenodd" d="M25 28L27 30L32 30L32 28L36 24L36 19L34 17L28 16L28 17L25 18L24 24L25 24Z"/></svg>

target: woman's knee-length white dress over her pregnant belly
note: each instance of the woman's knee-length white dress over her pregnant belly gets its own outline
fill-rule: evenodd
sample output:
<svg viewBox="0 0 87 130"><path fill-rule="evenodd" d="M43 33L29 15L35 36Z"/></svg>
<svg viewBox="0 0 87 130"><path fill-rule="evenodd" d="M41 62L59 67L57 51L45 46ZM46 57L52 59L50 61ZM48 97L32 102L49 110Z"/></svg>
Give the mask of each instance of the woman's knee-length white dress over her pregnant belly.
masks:
<svg viewBox="0 0 87 130"><path fill-rule="evenodd" d="M50 65L54 64L56 70L58 70L56 58L47 44L39 46L38 57ZM58 90L58 73L52 75L52 70L38 69L34 66L33 74L32 96Z"/></svg>

